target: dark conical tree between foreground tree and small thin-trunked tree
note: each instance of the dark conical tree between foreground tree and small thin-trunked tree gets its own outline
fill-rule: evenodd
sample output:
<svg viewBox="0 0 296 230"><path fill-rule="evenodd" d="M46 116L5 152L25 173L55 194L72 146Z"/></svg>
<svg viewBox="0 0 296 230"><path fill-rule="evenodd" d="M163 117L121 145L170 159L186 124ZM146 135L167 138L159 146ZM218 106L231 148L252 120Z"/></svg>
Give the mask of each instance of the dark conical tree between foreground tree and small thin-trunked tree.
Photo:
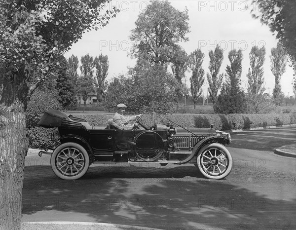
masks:
<svg viewBox="0 0 296 230"><path fill-rule="evenodd" d="M64 109L74 106L77 101L75 98L75 82L68 72L68 63L64 56L58 58L56 89L58 91L58 102Z"/></svg>

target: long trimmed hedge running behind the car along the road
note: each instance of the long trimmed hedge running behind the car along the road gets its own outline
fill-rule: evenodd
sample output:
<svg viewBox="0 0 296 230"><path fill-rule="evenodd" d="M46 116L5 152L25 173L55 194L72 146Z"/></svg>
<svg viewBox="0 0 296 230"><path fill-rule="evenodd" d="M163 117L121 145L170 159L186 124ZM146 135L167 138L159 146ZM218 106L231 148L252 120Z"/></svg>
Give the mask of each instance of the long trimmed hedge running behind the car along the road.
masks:
<svg viewBox="0 0 296 230"><path fill-rule="evenodd" d="M107 121L112 115L75 115L88 121L90 125L101 126L105 128ZM290 114L173 114L163 115L169 120L183 126L208 128L214 124L214 128L218 130L230 131L238 129L251 129L268 126L280 126L296 123L296 113ZM144 115L143 124L150 127L152 125L151 115ZM158 117L158 124L167 124L167 121ZM49 138L51 132L56 129L46 129L41 127L31 127L27 129L27 137L29 138L30 148L44 148L53 143L43 141Z"/></svg>

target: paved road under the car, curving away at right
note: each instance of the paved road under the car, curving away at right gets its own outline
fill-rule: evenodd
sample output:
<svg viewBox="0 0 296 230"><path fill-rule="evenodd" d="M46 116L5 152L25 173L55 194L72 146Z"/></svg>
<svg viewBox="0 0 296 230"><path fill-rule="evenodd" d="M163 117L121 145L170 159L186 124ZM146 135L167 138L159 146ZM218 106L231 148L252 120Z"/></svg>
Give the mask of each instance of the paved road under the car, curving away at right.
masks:
<svg viewBox="0 0 296 230"><path fill-rule="evenodd" d="M158 229L296 229L296 158L273 153L296 127L232 133L224 180L190 164L91 165L76 181L54 175L49 156L29 153L23 222L83 221Z"/></svg>

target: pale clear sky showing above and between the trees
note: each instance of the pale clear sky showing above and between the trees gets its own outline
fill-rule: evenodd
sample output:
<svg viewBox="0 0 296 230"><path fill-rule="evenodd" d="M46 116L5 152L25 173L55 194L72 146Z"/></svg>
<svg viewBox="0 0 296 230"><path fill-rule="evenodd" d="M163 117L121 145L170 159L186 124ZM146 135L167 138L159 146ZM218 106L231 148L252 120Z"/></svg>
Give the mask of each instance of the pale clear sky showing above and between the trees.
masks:
<svg viewBox="0 0 296 230"><path fill-rule="evenodd" d="M276 47L276 35L268 26L262 25L259 19L252 18L251 10L258 14L256 4L252 0L169 0L176 9L184 11L188 9L190 32L187 34L189 41L180 45L190 54L199 48L205 54L203 68L209 73L209 51L214 50L219 44L223 49L223 62L220 73L225 73L226 65L229 65L228 52L231 49L241 49L243 53L241 87L247 91L247 73L250 67L249 53L252 46L265 46L266 55L264 63L264 93L272 95L274 88L274 76L270 71L270 50ZM111 80L119 74L126 74L128 67L134 67L136 60L131 59L129 52L132 42L129 39L131 30L135 28L135 22L139 14L149 4L148 0L112 0L106 9L116 6L120 12L115 18L111 18L107 27L98 31L85 33L83 37L65 54L68 59L75 55L80 60L81 56L89 54L92 57L108 55L109 74ZM184 82L189 87L191 72L185 73ZM205 74L206 79L206 74ZM287 64L286 72L281 78L282 92L285 96L292 96L293 69ZM208 83L205 80L203 95L206 97Z"/></svg>

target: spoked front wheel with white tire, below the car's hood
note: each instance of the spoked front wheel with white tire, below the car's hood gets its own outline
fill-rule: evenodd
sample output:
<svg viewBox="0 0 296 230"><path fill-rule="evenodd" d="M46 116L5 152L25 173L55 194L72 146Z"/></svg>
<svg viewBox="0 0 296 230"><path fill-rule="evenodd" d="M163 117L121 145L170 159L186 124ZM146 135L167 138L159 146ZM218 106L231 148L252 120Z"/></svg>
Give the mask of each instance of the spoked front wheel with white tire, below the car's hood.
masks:
<svg viewBox="0 0 296 230"><path fill-rule="evenodd" d="M209 179L223 179L232 169L232 157L225 146L208 144L197 154L197 168Z"/></svg>

